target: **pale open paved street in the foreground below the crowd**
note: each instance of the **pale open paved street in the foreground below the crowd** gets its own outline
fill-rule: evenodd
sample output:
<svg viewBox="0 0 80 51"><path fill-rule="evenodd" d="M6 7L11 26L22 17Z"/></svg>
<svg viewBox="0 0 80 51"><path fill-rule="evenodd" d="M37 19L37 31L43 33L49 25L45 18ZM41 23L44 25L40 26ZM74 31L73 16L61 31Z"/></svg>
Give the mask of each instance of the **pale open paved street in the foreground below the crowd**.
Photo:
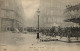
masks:
<svg viewBox="0 0 80 51"><path fill-rule="evenodd" d="M64 41L40 42L36 39L36 33L11 33L5 32L0 35L0 51L79 51L80 42ZM80 40L80 38L79 38Z"/></svg>

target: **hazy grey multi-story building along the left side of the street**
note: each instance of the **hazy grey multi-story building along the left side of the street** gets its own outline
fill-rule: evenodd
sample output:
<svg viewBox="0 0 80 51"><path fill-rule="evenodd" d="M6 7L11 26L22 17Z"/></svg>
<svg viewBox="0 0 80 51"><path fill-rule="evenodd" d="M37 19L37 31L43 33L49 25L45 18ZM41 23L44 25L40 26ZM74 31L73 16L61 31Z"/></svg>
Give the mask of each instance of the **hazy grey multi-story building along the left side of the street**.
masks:
<svg viewBox="0 0 80 51"><path fill-rule="evenodd" d="M22 27L23 11L20 0L0 0L0 31Z"/></svg>

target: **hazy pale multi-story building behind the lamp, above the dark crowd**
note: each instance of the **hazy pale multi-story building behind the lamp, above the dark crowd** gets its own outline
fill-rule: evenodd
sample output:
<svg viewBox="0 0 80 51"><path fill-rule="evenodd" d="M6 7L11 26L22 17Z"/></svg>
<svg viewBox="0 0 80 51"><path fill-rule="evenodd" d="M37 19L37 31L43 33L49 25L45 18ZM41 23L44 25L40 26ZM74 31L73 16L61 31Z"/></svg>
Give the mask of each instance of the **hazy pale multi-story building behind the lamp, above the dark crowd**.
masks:
<svg viewBox="0 0 80 51"><path fill-rule="evenodd" d="M70 3L73 3L73 2L70 1ZM68 3L67 1L59 1L59 0L56 0L56 1L40 0L40 6L39 6L40 26L41 27L52 27L52 26L70 27L70 26L77 25L73 22L64 22L64 20L67 19L67 17L69 18L69 15L65 16L64 11L66 9L66 5L70 3ZM74 11L71 11L71 12L74 12Z"/></svg>

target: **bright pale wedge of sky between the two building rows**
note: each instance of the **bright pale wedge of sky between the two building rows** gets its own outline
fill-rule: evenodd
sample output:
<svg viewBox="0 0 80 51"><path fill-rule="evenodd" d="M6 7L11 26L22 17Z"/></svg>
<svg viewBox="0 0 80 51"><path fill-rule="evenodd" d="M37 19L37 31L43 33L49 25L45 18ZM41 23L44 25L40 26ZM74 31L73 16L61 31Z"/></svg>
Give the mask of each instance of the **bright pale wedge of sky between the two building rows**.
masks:
<svg viewBox="0 0 80 51"><path fill-rule="evenodd" d="M34 24L34 15L39 7L39 0L21 0L22 6L25 14L25 25L26 26L35 26Z"/></svg>

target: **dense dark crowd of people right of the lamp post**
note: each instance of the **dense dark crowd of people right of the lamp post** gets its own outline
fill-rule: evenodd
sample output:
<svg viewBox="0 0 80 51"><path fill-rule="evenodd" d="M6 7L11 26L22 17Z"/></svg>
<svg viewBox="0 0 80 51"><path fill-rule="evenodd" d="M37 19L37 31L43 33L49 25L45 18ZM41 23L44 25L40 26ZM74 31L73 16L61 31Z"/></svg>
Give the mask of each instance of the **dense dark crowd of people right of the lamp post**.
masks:
<svg viewBox="0 0 80 51"><path fill-rule="evenodd" d="M42 34L47 36L80 37L80 27L59 27L57 31L55 29L55 27L52 27L50 29L43 29Z"/></svg>

